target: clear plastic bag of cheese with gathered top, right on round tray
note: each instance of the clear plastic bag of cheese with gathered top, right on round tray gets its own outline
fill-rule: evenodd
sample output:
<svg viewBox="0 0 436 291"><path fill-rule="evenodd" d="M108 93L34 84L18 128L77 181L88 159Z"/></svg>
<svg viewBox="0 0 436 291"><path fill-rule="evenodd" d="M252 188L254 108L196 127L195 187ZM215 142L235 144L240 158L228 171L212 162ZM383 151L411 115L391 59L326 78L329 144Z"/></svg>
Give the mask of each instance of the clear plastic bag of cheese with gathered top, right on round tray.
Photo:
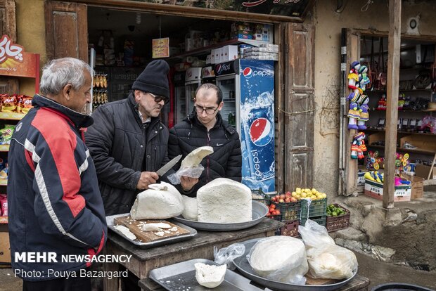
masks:
<svg viewBox="0 0 436 291"><path fill-rule="evenodd" d="M312 278L345 279L357 271L356 255L335 244L324 226L307 219L304 226L298 227L306 245L309 275Z"/></svg>

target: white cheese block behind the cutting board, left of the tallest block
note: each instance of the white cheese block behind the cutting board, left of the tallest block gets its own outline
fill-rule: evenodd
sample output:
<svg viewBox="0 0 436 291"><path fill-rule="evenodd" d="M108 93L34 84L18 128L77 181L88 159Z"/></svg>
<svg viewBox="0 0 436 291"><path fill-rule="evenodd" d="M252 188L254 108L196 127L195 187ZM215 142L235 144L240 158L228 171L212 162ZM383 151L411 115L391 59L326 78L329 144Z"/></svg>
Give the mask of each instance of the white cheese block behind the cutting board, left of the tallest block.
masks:
<svg viewBox="0 0 436 291"><path fill-rule="evenodd" d="M133 219L167 219L183 212L183 199L169 183L151 184L136 197L130 210Z"/></svg>

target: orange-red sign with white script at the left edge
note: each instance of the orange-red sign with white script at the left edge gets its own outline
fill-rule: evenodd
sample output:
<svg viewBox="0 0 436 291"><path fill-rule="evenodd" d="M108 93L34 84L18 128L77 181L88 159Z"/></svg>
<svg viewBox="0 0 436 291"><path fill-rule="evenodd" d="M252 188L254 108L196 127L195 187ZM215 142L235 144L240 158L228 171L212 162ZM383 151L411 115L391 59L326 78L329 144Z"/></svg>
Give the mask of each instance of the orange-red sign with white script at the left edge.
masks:
<svg viewBox="0 0 436 291"><path fill-rule="evenodd" d="M5 34L0 39L0 75L31 77L39 75L39 55L26 53Z"/></svg>

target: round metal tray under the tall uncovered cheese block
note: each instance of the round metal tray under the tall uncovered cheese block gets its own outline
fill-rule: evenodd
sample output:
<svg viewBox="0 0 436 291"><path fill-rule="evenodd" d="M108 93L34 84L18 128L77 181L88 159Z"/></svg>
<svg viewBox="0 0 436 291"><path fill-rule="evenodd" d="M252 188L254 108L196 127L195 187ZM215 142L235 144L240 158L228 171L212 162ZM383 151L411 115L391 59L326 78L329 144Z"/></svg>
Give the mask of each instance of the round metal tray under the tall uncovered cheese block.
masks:
<svg viewBox="0 0 436 291"><path fill-rule="evenodd" d="M176 216L173 219L191 226L198 231L238 231L240 229L249 228L259 224L260 221L268 213L267 205L261 202L252 200L252 221L240 222L238 224L213 224L210 222L199 222L189 219L184 219L182 216Z"/></svg>

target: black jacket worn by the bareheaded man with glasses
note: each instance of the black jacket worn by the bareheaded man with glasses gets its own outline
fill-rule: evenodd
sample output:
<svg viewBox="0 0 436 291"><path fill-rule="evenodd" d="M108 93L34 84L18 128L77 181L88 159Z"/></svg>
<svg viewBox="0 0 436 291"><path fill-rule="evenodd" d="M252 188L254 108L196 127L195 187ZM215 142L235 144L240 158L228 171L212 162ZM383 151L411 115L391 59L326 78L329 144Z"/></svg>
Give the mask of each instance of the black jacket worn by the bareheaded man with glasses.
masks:
<svg viewBox="0 0 436 291"><path fill-rule="evenodd" d="M239 141L236 129L224 122L219 113L217 114L217 123L209 132L198 121L195 111L169 130L169 158L180 154L184 158L195 148L205 145L212 146L214 153L205 157L201 162L205 170L198 183L188 193L181 191L191 197L197 195L198 188L220 177L241 182L241 141ZM179 167L180 162L176 169ZM180 186L179 190L181 190Z"/></svg>

